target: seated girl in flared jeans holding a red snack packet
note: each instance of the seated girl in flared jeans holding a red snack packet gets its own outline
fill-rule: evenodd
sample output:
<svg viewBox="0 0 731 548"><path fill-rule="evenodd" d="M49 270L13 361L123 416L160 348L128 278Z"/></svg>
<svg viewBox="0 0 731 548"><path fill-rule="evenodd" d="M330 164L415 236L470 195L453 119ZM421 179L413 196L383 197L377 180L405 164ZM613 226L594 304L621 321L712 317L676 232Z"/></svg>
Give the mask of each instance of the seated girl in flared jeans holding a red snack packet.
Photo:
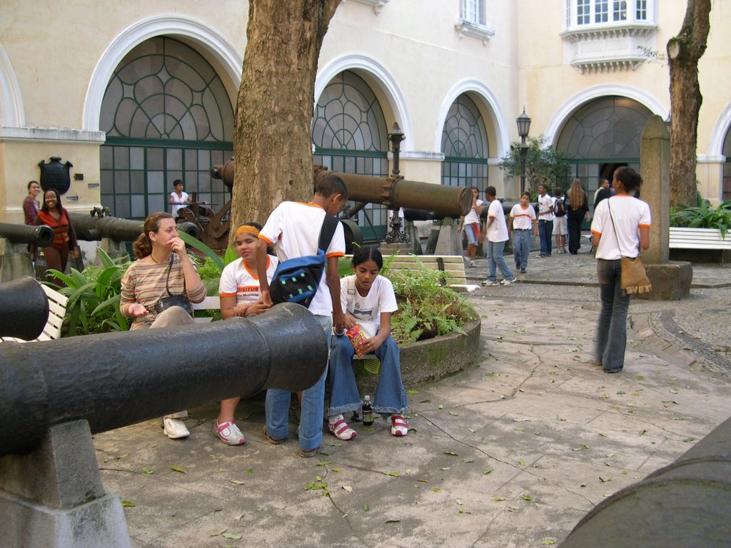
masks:
<svg viewBox="0 0 731 548"><path fill-rule="evenodd" d="M373 410L391 416L391 434L409 433L406 422L406 391L401 383L401 361L398 345L391 338L391 314L398 309L393 285L379 275L383 257L378 249L366 246L355 251L352 260L354 275L341 279L341 302L345 311L345 327L360 326L366 343L363 354L376 354L381 362L381 373L376 387ZM357 433L349 427L343 414L358 411L362 405L352 358L355 354L346 335L333 338L330 352L330 432L341 440L352 440Z"/></svg>

